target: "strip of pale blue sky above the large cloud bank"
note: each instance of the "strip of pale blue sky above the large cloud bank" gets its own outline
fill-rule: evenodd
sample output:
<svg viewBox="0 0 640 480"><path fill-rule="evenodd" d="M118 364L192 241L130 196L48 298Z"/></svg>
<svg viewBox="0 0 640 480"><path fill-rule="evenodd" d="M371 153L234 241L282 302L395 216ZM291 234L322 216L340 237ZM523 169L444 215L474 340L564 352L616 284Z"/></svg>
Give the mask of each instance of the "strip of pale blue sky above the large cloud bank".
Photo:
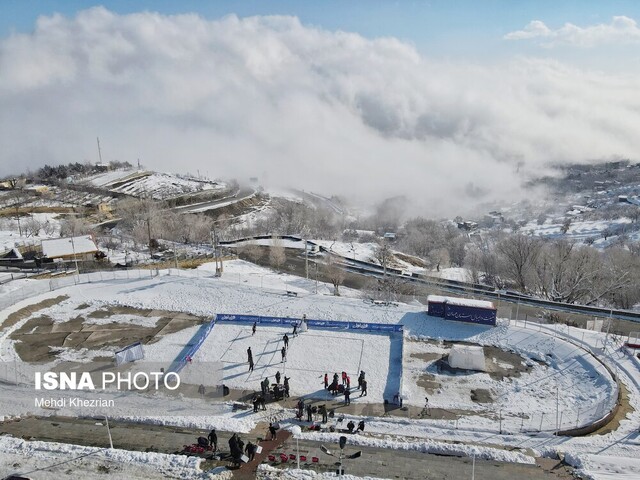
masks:
<svg viewBox="0 0 640 480"><path fill-rule="evenodd" d="M438 56L531 53L528 44L505 42L503 36L541 20L550 28L570 22L580 26L607 23L614 15L640 18L640 2L618 0L352 0L352 1L168 1L116 0L2 0L0 37L30 32L40 15L55 12L73 16L94 5L126 14L157 11L164 14L196 12L207 19L228 14L295 15L307 25L358 32L366 37L394 36Z"/></svg>

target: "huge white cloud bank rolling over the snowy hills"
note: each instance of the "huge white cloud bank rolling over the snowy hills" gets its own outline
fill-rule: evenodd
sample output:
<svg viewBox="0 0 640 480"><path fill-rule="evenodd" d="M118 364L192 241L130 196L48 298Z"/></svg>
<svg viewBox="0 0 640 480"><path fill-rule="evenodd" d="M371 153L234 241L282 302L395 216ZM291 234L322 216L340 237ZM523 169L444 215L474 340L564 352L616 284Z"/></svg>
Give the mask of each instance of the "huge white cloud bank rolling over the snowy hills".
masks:
<svg viewBox="0 0 640 480"><path fill-rule="evenodd" d="M0 41L0 175L140 161L423 215L519 195L549 162L637 158L640 81L551 60L435 61L294 17L40 18Z"/></svg>

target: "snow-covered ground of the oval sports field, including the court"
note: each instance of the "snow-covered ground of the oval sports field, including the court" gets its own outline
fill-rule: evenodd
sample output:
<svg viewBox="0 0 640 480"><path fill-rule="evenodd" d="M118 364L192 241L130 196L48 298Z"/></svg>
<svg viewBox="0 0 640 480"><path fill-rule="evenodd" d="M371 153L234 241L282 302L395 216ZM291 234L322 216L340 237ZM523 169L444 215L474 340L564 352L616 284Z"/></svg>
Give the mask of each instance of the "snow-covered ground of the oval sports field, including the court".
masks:
<svg viewBox="0 0 640 480"><path fill-rule="evenodd" d="M131 272L119 275L125 273L131 275ZM46 312L54 322L72 318L72 315L77 316L80 304L87 304L94 309L105 305L126 305L183 311L207 317L213 317L217 313L237 313L300 318L305 314L310 319L402 323L405 325L402 355L405 404L421 406L424 403L425 390L417 385L416 380L422 373L429 372L431 367L429 361L420 360L419 355L443 350L445 346L440 341L463 340L497 346L520 355L531 369L518 378L502 382L490 379L485 373L471 373L462 378L468 382L466 386L459 381L457 384L449 382L451 386L447 386L446 378L442 378L441 390L430 394L432 406L458 408L475 413L474 415L462 416L457 422L367 417L367 434L359 439L363 445L462 454L471 452L494 459L501 459L501 455L505 455L504 450L496 447L517 447L531 449L540 455L565 453L585 475L595 479L634 478L629 475L637 474L639 466L635 459L640 453L637 432L640 424L640 370L637 362L621 353L617 346L609 343L604 351L603 334L588 332L583 335L583 330L572 327L550 329L530 323L526 326L523 323L509 325L506 321L501 321L495 328L454 323L428 317L424 313L424 306L420 305L383 307L367 304L358 298L357 292L348 289L344 289L345 296L333 297L323 294L330 289L320 284L319 294L316 295L313 293L314 281L276 274L242 261L226 262L225 273L221 278L214 278L207 268L197 271L164 271L156 277L116 277L116 274L111 278L94 276L91 283L70 285L53 291L49 291L52 285L49 281L46 285L43 284L47 288L40 289L33 285L42 281L20 280L22 288L42 293L20 300L23 297L17 293L17 289L9 292L20 301L0 312L0 322L12 311L47 297L65 294L69 296L69 300L49 307ZM60 282L57 285L62 284ZM292 290L298 292L297 297L284 295L285 291ZM42 313L45 312L37 314ZM109 320L113 319L111 317ZM10 364L15 361L20 371L27 373L25 379L28 380L28 365L16 358L13 341L9 339L10 333L27 320L21 320L0 331L0 359ZM138 322L135 318L124 316L115 317L115 320L125 324ZM152 322L153 319L144 321ZM191 327L165 335L160 341L145 347L146 355L151 359L170 362L189 343L196 330L197 327ZM291 377L293 394L320 396L325 394L321 385L321 376L325 371L331 375L334 371L339 373L346 370L351 373L353 380L358 369L363 369L370 386L369 397L365 400L365 397L359 399L354 396L352 400L356 403L381 403L388 396L389 391L385 390L390 379L395 378L400 371L400 364L394 357L394 349L397 348L394 337L312 329L291 340L287 363L283 364L280 362L279 347L286 331L289 330L284 327L259 327L256 336L252 337L246 326L217 324L196 354L193 365L187 369L197 369L199 362L222 361L228 367L224 371L225 383L256 390L259 379L267 375L272 378L275 371L281 369L281 373ZM256 361L253 374L247 372L248 346L252 347ZM607 435L577 438L553 436L550 431L556 425L556 412L560 417L557 423L563 428L575 426L576 423L582 424L588 419L602 416L617 395L610 376L587 350L602 356L618 373L629 390L630 404L634 410L622 420L615 432ZM82 358L80 355L75 359ZM84 358L88 359L88 356ZM19 387L3 387L0 391L0 402L6 410L4 415L18 416L33 411L33 392L31 387L24 385L28 383L25 379L20 379L23 385ZM464 398L463 388L486 388L491 391L494 403L483 407L474 405ZM110 392L104 393L109 394ZM184 399L184 410L174 416L154 416L149 413L162 408L163 401L168 404L173 402L174 406L176 404L175 398L147 399L129 395L123 400L121 411L116 417L201 428L218 426L229 429L229 425L232 425L238 431L250 430L262 418L244 412L233 412L231 406L224 403L200 403L198 398ZM202 415L206 417L190 414L192 409L207 408L207 403L211 410L208 414L203 410ZM277 411L269 414L277 414ZM285 413L285 416L290 417L291 414ZM283 419L284 426L285 422ZM538 432L540 425L542 433ZM502 433L499 433L500 428ZM313 435L330 434L299 435L314 438ZM451 441L461 444L452 444ZM471 449L478 450L472 452ZM507 457L512 461L530 461L531 457L522 457L522 451L511 453L513 455ZM616 459L619 459L618 463ZM623 472L627 477L616 477L616 471Z"/></svg>

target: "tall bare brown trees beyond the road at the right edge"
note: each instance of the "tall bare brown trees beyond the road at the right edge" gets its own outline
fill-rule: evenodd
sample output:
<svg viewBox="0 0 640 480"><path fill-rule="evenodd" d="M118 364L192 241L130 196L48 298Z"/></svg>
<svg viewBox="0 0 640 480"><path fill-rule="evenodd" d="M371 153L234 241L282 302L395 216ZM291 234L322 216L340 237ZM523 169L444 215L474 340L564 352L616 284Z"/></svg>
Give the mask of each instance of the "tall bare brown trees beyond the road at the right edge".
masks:
<svg viewBox="0 0 640 480"><path fill-rule="evenodd" d="M510 234L477 237L468 246L471 280L558 302L631 308L640 302L640 256L565 239Z"/></svg>

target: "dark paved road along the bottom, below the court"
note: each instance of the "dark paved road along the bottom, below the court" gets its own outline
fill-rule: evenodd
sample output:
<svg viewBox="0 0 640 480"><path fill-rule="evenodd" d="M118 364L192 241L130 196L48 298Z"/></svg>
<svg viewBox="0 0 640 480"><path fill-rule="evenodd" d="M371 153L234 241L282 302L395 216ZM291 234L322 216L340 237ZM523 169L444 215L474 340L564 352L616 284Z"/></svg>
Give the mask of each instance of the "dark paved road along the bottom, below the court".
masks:
<svg viewBox="0 0 640 480"><path fill-rule="evenodd" d="M137 451L158 451L177 453L185 444L194 443L199 436L206 436L205 430L156 425L110 422L113 444L116 448ZM247 440L257 440L265 436L265 426L260 425L253 432L242 434ZM107 447L109 440L106 427L93 419L73 419L64 417L28 417L19 421L0 424L0 433L10 433L29 440L55 441L79 445ZM224 453L230 432L218 432L218 446ZM300 453L307 455L307 464L303 468L320 471L334 471L335 458L321 452L320 443L300 441ZM337 446L328 445L330 450ZM288 439L283 446L269 445L276 453L296 453L294 439ZM369 475L378 478L398 478L407 480L444 480L471 478L472 460L470 458L445 457L413 451L398 451L384 448L355 448L347 446L347 453L362 451L357 460L346 460L347 473ZM318 464L310 463L311 457L320 459ZM208 462L207 466L225 465L224 459ZM249 467L249 466L247 466ZM243 468L246 473L246 468ZM251 469L253 470L253 469ZM238 472L239 474L241 472ZM238 478L246 478L245 475ZM566 467L557 462L542 461L539 465L520 465L495 461L477 460L475 465L477 480L512 480L526 478L530 480L558 480L573 478Z"/></svg>

